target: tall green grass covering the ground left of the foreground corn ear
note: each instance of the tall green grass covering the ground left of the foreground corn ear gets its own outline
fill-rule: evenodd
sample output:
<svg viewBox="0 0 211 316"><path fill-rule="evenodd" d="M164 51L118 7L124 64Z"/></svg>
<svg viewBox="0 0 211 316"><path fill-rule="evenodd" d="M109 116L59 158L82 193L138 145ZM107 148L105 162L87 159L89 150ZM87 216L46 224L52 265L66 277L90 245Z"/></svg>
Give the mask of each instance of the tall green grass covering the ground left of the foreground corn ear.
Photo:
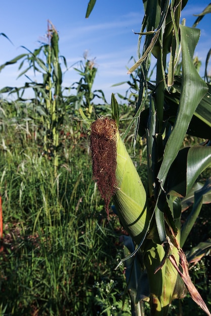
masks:
<svg viewBox="0 0 211 316"><path fill-rule="evenodd" d="M1 135L0 314L129 315L123 268L113 270L120 226L108 222L92 180L88 139L62 140L55 178L50 157L26 136L17 126Z"/></svg>

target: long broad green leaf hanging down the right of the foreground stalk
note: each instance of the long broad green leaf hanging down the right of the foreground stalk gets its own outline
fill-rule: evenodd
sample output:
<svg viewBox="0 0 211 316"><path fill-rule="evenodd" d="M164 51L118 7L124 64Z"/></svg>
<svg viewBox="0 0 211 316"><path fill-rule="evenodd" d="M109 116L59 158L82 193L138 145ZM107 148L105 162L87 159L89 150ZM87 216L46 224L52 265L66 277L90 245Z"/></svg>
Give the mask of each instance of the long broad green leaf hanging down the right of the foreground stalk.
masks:
<svg viewBox="0 0 211 316"><path fill-rule="evenodd" d="M162 187L168 170L180 149L191 118L202 97L208 90L193 64L193 53L199 39L200 31L182 25L180 26L180 30L183 67L182 91L176 123L166 143L163 162L158 173L158 179Z"/></svg>

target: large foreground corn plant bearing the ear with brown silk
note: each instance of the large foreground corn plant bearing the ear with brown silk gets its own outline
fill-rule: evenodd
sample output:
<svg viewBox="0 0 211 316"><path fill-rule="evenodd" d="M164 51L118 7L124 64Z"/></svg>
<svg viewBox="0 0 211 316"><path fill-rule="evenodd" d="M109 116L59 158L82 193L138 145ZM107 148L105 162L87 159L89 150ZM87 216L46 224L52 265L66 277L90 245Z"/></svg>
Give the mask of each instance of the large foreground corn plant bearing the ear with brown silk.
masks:
<svg viewBox="0 0 211 316"><path fill-rule="evenodd" d="M138 33L138 61L128 71L130 74L141 67L139 98L136 114L123 139L134 123L134 144L138 134L146 138L148 185L143 186L119 136L118 104L113 95L111 119L99 118L90 126L93 176L107 213L113 197L120 222L136 244L130 258L140 254L142 265L134 267L140 267L139 274L147 277L137 281L142 284L136 288L135 306L148 301L151 316L165 316L172 300L183 298L187 288L192 299L210 316L191 282L182 247L207 194L210 202L211 178L203 188L194 190L198 176L211 165L211 87L199 76L193 57L200 36L195 26L211 12L211 7L205 8L190 28L185 21L180 24L187 0L143 3L145 15ZM87 16L94 4L91 0ZM156 59L155 84L146 80L152 55ZM148 95L149 108L145 109ZM184 146L186 135L200 140ZM192 210L181 225L183 199L191 192ZM148 285L147 294L143 291L144 283ZM134 314L144 315L142 307L139 305Z"/></svg>

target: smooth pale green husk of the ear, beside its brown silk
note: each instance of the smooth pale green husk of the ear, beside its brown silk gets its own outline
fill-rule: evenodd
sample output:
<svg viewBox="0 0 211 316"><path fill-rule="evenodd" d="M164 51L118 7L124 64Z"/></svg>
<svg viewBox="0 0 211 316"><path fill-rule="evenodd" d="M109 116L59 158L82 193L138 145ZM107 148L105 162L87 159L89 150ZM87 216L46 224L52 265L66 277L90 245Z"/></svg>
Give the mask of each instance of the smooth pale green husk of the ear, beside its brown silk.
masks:
<svg viewBox="0 0 211 316"><path fill-rule="evenodd" d="M117 189L114 195L119 219L136 244L143 239L149 225L146 191L119 132L117 144Z"/></svg>

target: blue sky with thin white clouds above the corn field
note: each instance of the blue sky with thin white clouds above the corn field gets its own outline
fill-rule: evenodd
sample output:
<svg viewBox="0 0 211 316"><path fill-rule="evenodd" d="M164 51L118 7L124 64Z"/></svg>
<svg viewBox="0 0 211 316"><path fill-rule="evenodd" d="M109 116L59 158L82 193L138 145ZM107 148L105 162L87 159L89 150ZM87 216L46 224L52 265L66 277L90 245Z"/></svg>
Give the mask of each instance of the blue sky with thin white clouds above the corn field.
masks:
<svg viewBox="0 0 211 316"><path fill-rule="evenodd" d="M0 37L0 65L26 51L39 46L38 40L45 36L47 20L55 25L59 32L60 55L65 56L68 66L82 60L83 52L88 50L89 58L96 58L98 73L94 89L102 89L108 102L112 92L125 94L128 85L111 87L113 84L129 80L126 66L132 66L129 60L137 58L138 32L144 16L142 0L97 0L89 19L85 19L88 0L46 1L27 0L1 2L0 33L5 33L12 45L3 36ZM198 14L210 0L189 0L182 17L186 25L192 26ZM205 16L199 23L201 37L195 55L202 62L202 69L207 51L211 47L211 19ZM210 69L210 68L209 68ZM26 79L16 79L18 66L8 66L0 73L0 87L21 86ZM28 73L33 80L33 73ZM63 79L64 86L70 86L78 80L77 73L70 68Z"/></svg>

